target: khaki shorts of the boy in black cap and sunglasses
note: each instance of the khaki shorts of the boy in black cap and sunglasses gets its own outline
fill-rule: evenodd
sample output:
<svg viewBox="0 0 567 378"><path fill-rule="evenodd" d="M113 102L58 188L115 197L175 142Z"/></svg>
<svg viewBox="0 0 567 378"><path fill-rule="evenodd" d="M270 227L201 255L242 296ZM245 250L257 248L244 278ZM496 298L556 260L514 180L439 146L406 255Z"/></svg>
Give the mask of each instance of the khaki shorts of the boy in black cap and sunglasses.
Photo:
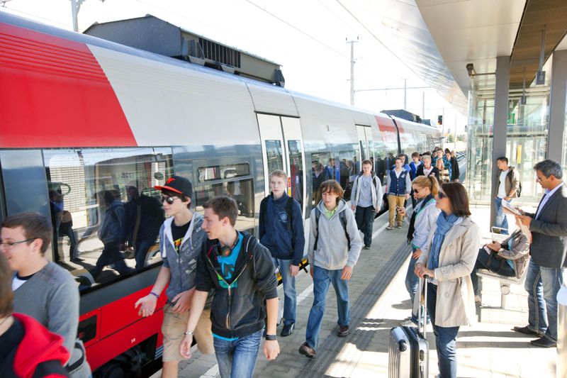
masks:
<svg viewBox="0 0 567 378"><path fill-rule="evenodd" d="M162 360L164 362L186 360L185 357L179 354L179 345L181 345L181 340L183 340L184 333L187 330L190 312L191 310L184 313L174 313L173 306L169 304L164 306L164 322L162 324L162 333L164 335ZM210 310L203 310L193 338L197 342L197 348L205 355L215 352L215 348L213 348L213 333L210 330L210 326Z"/></svg>

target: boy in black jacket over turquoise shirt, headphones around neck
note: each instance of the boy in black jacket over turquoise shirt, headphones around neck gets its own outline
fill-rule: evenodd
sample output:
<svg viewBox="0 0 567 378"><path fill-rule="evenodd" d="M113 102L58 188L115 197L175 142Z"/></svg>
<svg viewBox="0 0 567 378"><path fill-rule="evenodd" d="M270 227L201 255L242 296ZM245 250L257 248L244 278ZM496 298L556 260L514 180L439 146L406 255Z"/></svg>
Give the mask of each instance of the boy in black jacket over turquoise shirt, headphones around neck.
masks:
<svg viewBox="0 0 567 378"><path fill-rule="evenodd" d="M214 288L210 321L220 377L252 377L266 317L264 299L264 355L268 360L279 355L274 264L269 250L253 235L235 230L238 209L233 199L218 196L207 201L203 209L203 229L208 240L197 262L197 287L180 353L191 357L193 331L207 294Z"/></svg>

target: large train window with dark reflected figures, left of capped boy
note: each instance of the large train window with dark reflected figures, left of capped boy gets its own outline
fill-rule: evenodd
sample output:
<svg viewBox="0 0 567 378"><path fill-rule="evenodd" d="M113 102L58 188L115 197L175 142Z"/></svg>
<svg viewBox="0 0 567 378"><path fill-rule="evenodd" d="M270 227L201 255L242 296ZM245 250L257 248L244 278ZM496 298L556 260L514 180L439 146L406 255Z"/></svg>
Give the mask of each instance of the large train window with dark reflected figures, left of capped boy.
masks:
<svg viewBox="0 0 567 378"><path fill-rule="evenodd" d="M155 185L173 175L170 148L43 150L53 260L80 289L161 260L163 223ZM56 240L56 242L55 242Z"/></svg>

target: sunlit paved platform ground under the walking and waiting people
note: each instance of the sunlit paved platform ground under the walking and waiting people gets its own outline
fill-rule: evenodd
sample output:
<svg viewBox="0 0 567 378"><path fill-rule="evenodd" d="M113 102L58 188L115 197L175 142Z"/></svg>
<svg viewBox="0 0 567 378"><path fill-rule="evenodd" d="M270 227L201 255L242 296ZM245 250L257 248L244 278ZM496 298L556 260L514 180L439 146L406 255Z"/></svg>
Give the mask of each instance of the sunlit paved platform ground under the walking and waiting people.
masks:
<svg viewBox="0 0 567 378"><path fill-rule="evenodd" d="M473 209L473 218L482 226L485 238L490 238L489 213L488 208ZM350 282L351 335L335 335L337 311L335 293L330 289L318 357L310 360L298 354L313 301L310 277L301 274L297 280L297 328L288 338L279 338L281 355L275 361L259 356L254 377L387 377L389 330L410 315L410 299L404 286L408 225L400 230L384 230L386 217L377 219L373 247L362 251ZM555 377L556 350L533 348L528 343L530 338L510 330L527 323L527 299L522 287L512 286L505 309L500 308L500 286L495 280L484 279L482 294L482 306L477 308L479 322L461 328L457 338L459 377ZM428 332L430 377L435 377L437 355L432 330ZM179 376L217 377L214 355L196 352L181 364Z"/></svg>

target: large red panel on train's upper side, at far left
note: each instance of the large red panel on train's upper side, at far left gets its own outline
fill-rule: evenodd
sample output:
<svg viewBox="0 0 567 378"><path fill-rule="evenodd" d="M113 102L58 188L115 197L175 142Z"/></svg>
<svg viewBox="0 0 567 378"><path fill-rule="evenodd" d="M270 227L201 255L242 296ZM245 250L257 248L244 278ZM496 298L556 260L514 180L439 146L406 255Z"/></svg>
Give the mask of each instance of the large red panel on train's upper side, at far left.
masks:
<svg viewBox="0 0 567 378"><path fill-rule="evenodd" d="M0 148L135 146L83 43L0 24Z"/></svg>

